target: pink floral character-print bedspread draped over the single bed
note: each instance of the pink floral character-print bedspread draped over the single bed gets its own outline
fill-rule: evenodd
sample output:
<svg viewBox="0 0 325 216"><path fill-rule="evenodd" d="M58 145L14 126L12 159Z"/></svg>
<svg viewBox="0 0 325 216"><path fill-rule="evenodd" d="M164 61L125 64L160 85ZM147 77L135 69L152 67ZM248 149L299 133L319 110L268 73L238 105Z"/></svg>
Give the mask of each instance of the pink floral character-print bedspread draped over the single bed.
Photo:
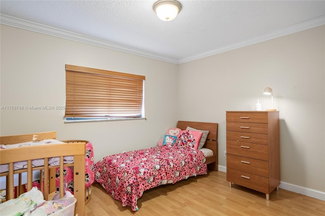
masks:
<svg viewBox="0 0 325 216"><path fill-rule="evenodd" d="M133 211L144 191L202 174L207 174L203 152L179 146L110 155L95 164L95 181Z"/></svg>

